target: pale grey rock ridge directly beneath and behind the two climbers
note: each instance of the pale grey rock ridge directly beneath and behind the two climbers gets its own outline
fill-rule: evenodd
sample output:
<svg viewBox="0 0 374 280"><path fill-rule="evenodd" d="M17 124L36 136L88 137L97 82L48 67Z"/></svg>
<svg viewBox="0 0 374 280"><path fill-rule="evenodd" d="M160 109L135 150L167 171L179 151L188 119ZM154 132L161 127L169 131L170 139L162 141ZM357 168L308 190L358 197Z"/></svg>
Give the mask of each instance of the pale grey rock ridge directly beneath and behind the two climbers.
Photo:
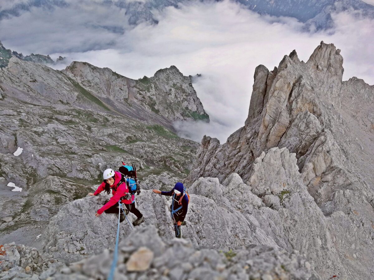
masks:
<svg viewBox="0 0 374 280"><path fill-rule="evenodd" d="M266 172L271 165L274 167L272 172ZM271 246L274 252L288 251L295 258L305 258L302 263L307 260L308 271L316 269L324 277L338 274L344 279L347 272L341 259L337 258L338 248L329 233L331 225L307 192L298 172L295 154L290 154L286 148L274 148L264 153L255 163L252 181L248 186L237 174L230 175L223 184L217 178L197 180L189 189L190 210L183 236L194 248L209 246L227 252L250 244ZM43 234L43 258L69 264L111 248L115 239L116 215L94 217L107 199L106 195L85 197L61 208ZM142 190L137 202L145 217L145 226L156 226L160 238L171 240L174 233L169 217L170 202L166 197ZM134 219L130 214L130 223ZM120 239L131 233L126 221L120 229ZM108 267L103 265L102 269ZM285 270L294 273L288 268ZM277 273L270 275L279 276ZM295 279L312 276L309 272L303 273ZM317 273L313 275L319 279ZM210 279L208 276L202 278Z"/></svg>

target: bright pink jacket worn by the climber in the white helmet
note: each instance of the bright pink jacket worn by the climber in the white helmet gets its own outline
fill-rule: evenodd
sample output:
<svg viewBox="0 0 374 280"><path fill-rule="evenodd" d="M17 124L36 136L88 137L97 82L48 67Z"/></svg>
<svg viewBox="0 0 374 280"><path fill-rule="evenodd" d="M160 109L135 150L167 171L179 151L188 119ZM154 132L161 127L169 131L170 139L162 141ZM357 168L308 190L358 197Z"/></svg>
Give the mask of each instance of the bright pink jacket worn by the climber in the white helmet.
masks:
<svg viewBox="0 0 374 280"><path fill-rule="evenodd" d="M114 204L118 203L120 198L124 195L126 195L129 192L129 188L125 182L120 184L119 186L118 183L120 182L122 176L121 173L118 171L114 171L114 184L110 186L112 188L112 194L113 196L110 198L110 200L104 204L97 212L98 214L102 214L105 210L113 206ZM101 193L103 190L105 190L105 183L102 182L100 186L97 188L96 192L93 193L93 195L98 195ZM121 200L122 203L125 204L131 204L135 201L135 196L132 195L131 199L123 199Z"/></svg>

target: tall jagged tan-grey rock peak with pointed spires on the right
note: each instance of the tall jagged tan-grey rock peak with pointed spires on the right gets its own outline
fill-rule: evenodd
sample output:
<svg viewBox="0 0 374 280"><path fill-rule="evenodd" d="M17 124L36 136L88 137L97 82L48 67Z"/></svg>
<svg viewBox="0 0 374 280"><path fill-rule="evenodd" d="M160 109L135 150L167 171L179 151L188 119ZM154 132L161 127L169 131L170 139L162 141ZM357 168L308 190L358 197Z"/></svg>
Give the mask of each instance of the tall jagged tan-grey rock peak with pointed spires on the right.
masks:
<svg viewBox="0 0 374 280"><path fill-rule="evenodd" d="M356 265L360 257L353 248L362 250L360 262L370 267L374 88L355 77L342 82L342 63L340 50L321 42L306 63L300 62L294 51L273 71L258 66L245 126L222 145L205 136L188 181L211 176L224 182L237 172L266 205L278 208L281 203L273 193L282 189L282 180L300 171L300 187L307 186L324 214L318 216L324 223L322 239L325 244L334 244L336 250L329 252L328 258L337 254L341 263L369 277L370 270ZM258 169L264 155L274 147L295 153L297 166L286 171L274 161ZM258 176L264 178L274 170L274 181L261 185L263 179ZM355 233L344 234L347 228L354 228Z"/></svg>

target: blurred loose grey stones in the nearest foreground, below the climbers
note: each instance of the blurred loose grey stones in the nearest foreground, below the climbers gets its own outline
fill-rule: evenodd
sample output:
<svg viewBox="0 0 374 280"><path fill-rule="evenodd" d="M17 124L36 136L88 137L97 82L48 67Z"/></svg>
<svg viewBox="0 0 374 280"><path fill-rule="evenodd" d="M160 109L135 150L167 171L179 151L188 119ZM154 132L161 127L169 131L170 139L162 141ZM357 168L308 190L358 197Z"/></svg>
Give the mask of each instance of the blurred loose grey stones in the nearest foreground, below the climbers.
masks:
<svg viewBox="0 0 374 280"><path fill-rule="evenodd" d="M17 252L15 245L6 245L7 252ZM42 273L32 274L29 265L37 259L19 263L12 259L12 268L0 272L3 279L107 279L112 250L89 256L65 265L49 262ZM163 240L153 225L140 226L119 244L119 261L115 279L318 279L310 264L297 252L286 253L269 246L248 245L230 251L214 248L196 249L188 240ZM136 260L136 261L135 261ZM10 263L10 262L9 262ZM12 274L19 276L12 278ZM10 277L9 277L10 276Z"/></svg>

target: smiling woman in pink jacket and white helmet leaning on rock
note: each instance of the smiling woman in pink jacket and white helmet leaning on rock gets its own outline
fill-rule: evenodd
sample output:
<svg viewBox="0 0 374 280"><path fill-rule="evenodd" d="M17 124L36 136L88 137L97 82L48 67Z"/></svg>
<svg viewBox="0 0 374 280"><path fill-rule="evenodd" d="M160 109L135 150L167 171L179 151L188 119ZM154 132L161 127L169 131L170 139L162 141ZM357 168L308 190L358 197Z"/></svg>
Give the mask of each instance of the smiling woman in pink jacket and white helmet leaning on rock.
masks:
<svg viewBox="0 0 374 280"><path fill-rule="evenodd" d="M118 171L114 171L113 169L106 169L103 174L104 181L101 185L97 188L95 193L89 193L89 195L98 195L103 190L105 190L108 194L110 190L112 190L113 196L110 200L102 206L97 213L95 214L96 217L99 217L103 212L105 213L118 213L118 202L121 200L122 203L125 203L126 206L126 215L131 212L135 216L137 216L137 220L135 220L132 224L139 225L144 222L144 217L140 213L140 211L135 208L135 196L129 193L129 188L125 182L121 183L122 174ZM119 186L118 186L119 185ZM125 220L125 215L121 212L120 222Z"/></svg>

